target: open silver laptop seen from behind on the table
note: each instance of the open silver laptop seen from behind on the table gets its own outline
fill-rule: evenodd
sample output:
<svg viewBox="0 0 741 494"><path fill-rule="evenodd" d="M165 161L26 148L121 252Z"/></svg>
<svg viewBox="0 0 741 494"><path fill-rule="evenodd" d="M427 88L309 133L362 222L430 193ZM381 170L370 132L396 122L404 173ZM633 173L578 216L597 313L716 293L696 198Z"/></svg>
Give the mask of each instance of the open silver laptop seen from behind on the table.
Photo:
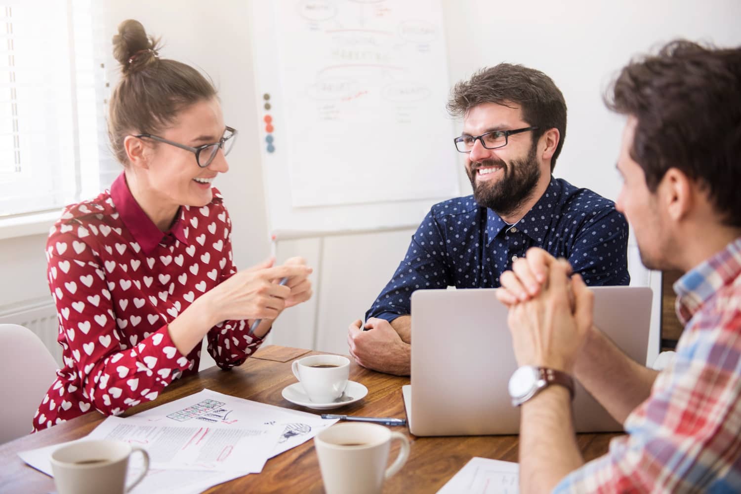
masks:
<svg viewBox="0 0 741 494"><path fill-rule="evenodd" d="M594 324L623 352L645 362L651 320L648 287L594 287ZM414 435L519 433L507 390L517 368L507 308L496 290L417 290L412 294L411 386L402 387ZM576 383L576 432L622 426Z"/></svg>

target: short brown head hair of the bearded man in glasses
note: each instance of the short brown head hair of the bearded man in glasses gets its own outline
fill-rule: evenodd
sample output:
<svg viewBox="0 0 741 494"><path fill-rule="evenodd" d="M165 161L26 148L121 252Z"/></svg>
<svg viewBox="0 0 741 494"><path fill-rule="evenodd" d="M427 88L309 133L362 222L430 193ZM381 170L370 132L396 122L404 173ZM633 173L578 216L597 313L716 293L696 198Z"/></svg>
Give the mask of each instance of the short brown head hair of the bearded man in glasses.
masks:
<svg viewBox="0 0 741 494"><path fill-rule="evenodd" d="M566 101L553 79L539 70L522 65L499 64L483 68L468 81L459 81L451 91L448 112L464 116L468 110L482 103L519 104L522 119L537 126L533 142L546 130L556 128L559 142L551 158L551 171L561 153L566 138Z"/></svg>

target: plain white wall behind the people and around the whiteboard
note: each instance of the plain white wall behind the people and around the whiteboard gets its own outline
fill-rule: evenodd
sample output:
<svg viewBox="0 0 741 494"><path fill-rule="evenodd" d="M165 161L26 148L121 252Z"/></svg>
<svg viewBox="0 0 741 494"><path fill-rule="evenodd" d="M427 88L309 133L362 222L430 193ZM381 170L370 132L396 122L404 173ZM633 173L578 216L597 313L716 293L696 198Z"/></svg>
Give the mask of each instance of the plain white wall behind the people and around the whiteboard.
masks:
<svg viewBox="0 0 741 494"><path fill-rule="evenodd" d="M619 189L614 162L622 122L605 110L601 96L614 71L632 54L675 36L741 44L737 0L443 0L443 5L451 84L500 61L548 73L569 107L556 176L613 199ZM237 265L262 260L269 244L249 28L259 19L250 19L250 1L127 0L102 2L100 7L110 36L119 21L139 19L148 32L162 36L162 56L200 67L216 82L225 119L240 132L229 156L230 172L216 187L233 218ZM116 67L112 59L107 67ZM460 163L451 166L459 167L462 190L469 190ZM276 323L273 341L345 353L348 324L365 313L390 278L411 233L334 236L323 245L318 239L282 242L279 260L300 254L321 270L314 275L317 297L285 313ZM0 241L1 276L6 281L0 284L0 306L48 297L44 241L45 236Z"/></svg>

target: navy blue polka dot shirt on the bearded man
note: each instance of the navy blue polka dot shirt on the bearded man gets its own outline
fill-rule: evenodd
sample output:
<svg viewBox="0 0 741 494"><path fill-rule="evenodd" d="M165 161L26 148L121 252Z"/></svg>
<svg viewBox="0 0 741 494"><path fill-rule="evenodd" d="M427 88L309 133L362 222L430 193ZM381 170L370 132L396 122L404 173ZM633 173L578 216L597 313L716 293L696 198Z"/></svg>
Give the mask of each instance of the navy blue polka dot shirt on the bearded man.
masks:
<svg viewBox="0 0 741 494"><path fill-rule="evenodd" d="M530 247L567 258L588 285L631 281L628 222L614 202L551 178L545 194L514 225L473 196L435 204L365 318L393 321L411 313L414 290L499 287L499 275Z"/></svg>

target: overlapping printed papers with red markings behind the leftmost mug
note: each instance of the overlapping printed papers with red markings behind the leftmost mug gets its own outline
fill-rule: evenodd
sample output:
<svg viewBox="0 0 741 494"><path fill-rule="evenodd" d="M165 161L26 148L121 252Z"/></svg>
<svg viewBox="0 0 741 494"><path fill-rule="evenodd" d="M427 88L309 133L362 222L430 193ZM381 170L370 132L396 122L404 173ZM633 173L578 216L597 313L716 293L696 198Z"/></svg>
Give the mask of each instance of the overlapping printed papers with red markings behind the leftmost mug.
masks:
<svg viewBox="0 0 741 494"><path fill-rule="evenodd" d="M142 447L150 470L131 492L200 493L233 478L259 473L268 458L313 438L334 424L313 413L202 390L128 418L108 417L79 441L117 439ZM66 443L65 443L66 444ZM52 475L51 453L62 446L19 453L31 467ZM134 453L129 477L142 469Z"/></svg>

